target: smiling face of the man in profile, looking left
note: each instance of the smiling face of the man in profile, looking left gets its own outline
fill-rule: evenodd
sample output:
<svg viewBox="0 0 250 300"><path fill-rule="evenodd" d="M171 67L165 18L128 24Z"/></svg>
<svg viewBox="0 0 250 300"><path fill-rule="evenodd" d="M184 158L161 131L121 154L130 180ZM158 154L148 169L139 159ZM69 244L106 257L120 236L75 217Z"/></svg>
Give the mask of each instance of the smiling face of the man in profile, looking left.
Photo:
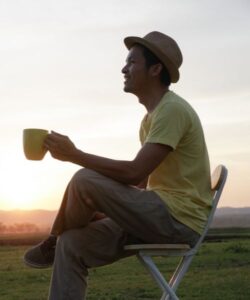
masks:
<svg viewBox="0 0 250 300"><path fill-rule="evenodd" d="M126 65L122 69L124 74L124 91L141 95L145 91L149 76L145 65L145 58L143 56L143 49L140 46L133 46L129 50L126 59Z"/></svg>

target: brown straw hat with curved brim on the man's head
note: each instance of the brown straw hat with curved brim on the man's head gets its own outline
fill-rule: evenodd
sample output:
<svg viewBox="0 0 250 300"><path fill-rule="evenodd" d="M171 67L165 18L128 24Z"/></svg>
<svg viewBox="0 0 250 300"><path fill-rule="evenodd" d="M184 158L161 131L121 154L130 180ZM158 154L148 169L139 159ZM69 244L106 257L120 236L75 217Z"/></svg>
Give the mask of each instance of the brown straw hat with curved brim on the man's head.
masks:
<svg viewBox="0 0 250 300"><path fill-rule="evenodd" d="M145 35L143 38L129 36L124 39L124 43L128 49L134 44L141 44L152 51L159 60L167 68L171 82L179 80L179 67L182 64L182 54L177 43L169 36L153 31Z"/></svg>

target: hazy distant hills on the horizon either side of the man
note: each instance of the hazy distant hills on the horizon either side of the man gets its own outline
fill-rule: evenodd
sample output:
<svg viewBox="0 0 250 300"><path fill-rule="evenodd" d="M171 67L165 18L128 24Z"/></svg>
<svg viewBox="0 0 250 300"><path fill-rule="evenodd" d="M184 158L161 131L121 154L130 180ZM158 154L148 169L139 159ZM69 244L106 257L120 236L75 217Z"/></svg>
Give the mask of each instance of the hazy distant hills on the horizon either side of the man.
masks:
<svg viewBox="0 0 250 300"><path fill-rule="evenodd" d="M5 225L32 223L40 228L48 228L53 223L56 211L50 210L0 210L0 223ZM250 227L250 207L218 208L212 227Z"/></svg>

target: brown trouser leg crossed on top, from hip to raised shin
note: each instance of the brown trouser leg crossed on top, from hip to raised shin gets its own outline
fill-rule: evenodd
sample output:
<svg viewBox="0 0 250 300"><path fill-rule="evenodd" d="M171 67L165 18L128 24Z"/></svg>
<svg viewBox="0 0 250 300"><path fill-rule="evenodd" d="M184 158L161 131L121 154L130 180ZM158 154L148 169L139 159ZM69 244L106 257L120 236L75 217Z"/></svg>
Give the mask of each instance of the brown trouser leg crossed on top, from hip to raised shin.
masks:
<svg viewBox="0 0 250 300"><path fill-rule="evenodd" d="M199 238L171 216L154 192L121 184L89 169L79 170L72 178L53 230L63 223L62 219L64 230L86 226L93 213L86 198L126 232L145 242L193 245Z"/></svg>

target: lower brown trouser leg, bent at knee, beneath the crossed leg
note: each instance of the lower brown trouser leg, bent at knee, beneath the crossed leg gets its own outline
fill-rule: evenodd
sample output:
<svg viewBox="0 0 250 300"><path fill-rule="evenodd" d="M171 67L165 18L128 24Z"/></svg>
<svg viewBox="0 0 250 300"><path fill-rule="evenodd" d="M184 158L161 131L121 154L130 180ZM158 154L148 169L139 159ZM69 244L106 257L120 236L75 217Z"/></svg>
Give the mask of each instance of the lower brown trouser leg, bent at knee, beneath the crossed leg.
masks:
<svg viewBox="0 0 250 300"><path fill-rule="evenodd" d="M125 257L126 242L127 234L109 218L65 231L58 238L49 300L85 299L88 268Z"/></svg>

